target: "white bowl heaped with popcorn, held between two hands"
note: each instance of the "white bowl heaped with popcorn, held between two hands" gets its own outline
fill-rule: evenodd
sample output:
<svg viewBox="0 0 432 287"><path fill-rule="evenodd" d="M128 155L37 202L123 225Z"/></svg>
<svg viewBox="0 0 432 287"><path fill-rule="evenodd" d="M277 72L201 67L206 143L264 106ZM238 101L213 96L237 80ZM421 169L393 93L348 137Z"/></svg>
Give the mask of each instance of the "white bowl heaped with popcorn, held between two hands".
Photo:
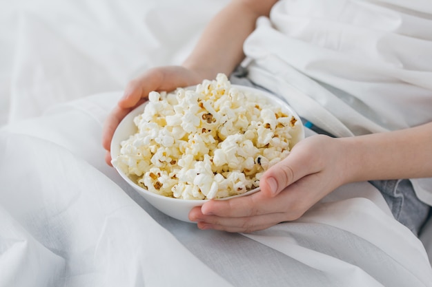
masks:
<svg viewBox="0 0 432 287"><path fill-rule="evenodd" d="M195 206L259 191L259 178L304 138L283 100L232 85L224 74L194 87L150 92L119 124L112 166L163 213L188 220Z"/></svg>

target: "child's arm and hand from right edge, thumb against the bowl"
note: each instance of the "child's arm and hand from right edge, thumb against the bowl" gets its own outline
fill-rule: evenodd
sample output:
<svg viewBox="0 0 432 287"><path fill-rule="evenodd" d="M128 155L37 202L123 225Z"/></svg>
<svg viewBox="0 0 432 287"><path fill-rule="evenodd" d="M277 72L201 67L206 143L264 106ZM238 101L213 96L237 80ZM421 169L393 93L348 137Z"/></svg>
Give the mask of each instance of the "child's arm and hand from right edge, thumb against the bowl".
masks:
<svg viewBox="0 0 432 287"><path fill-rule="evenodd" d="M352 138L311 136L260 179L262 192L206 202L190 220L199 228L249 232L296 220L343 184L432 177L432 123Z"/></svg>

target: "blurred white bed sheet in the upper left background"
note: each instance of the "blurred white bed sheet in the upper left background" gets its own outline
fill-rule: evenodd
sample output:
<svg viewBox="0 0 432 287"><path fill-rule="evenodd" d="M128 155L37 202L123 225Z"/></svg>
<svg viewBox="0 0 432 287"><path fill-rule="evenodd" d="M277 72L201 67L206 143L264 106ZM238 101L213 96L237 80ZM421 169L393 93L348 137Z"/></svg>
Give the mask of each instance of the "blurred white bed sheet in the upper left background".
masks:
<svg viewBox="0 0 432 287"><path fill-rule="evenodd" d="M2 1L0 124L180 63L227 2Z"/></svg>

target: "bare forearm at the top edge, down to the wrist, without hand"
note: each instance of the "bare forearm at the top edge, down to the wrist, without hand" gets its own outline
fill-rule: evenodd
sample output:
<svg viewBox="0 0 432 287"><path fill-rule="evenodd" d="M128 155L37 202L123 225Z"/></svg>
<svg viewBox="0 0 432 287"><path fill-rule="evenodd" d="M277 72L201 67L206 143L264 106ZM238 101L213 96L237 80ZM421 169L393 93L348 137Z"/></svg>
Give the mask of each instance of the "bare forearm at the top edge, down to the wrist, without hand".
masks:
<svg viewBox="0 0 432 287"><path fill-rule="evenodd" d="M259 16L268 15L275 0L234 0L209 23L184 66L203 78L230 74L242 59L243 43Z"/></svg>

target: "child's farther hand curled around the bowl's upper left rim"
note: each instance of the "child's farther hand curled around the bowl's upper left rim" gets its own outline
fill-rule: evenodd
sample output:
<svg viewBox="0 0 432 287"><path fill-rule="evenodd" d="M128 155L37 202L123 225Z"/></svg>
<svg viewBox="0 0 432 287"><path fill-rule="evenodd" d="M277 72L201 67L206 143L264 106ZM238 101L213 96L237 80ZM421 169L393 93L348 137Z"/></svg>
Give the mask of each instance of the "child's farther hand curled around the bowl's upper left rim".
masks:
<svg viewBox="0 0 432 287"><path fill-rule="evenodd" d="M202 82L203 78L193 70L181 66L157 67L130 81L124 96L108 115L102 131L102 145L107 153L105 161L111 165L110 143L120 121L135 107L147 100L149 92L170 92L177 87L187 87Z"/></svg>

